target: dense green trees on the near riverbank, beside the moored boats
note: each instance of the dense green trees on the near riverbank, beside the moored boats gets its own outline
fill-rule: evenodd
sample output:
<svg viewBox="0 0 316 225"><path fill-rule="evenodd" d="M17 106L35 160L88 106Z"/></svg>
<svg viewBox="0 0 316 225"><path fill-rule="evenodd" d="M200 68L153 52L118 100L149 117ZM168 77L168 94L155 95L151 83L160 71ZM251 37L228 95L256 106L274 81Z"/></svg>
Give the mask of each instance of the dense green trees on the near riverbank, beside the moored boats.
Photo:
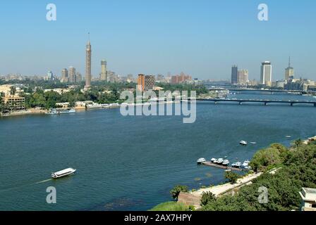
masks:
<svg viewBox="0 0 316 225"><path fill-rule="evenodd" d="M316 146L292 146L285 148L273 144L258 151L251 165L258 171L281 167L275 174L265 172L253 180L253 184L243 186L236 195L224 195L207 201L202 207L206 211L288 211L300 210L299 191L302 187L316 188ZM260 187L268 190L268 202L258 201Z"/></svg>

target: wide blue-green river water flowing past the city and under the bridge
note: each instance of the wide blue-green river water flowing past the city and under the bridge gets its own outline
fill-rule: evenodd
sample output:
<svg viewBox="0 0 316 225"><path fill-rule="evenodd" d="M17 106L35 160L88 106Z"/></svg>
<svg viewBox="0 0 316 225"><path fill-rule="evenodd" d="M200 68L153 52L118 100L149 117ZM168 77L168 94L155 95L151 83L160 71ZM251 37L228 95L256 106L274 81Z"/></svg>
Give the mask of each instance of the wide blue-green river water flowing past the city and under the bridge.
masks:
<svg viewBox="0 0 316 225"><path fill-rule="evenodd" d="M315 101L310 96L236 94L229 98ZM176 184L219 184L221 169L197 158L251 159L270 143L316 134L308 105L198 103L197 120L123 117L119 109L0 118L0 210L148 210L171 200ZM291 136L291 139L286 138ZM239 141L257 145L240 146ZM77 174L51 180L67 167ZM56 204L47 204L47 187Z"/></svg>

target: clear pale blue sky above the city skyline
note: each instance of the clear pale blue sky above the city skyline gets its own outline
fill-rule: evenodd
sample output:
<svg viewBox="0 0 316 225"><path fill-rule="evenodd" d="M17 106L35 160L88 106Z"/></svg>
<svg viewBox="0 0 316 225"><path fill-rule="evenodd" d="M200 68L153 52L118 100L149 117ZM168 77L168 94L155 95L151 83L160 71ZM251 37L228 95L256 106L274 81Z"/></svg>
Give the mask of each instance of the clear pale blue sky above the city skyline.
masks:
<svg viewBox="0 0 316 225"><path fill-rule="evenodd" d="M54 22L46 20L49 3ZM269 6L267 22L257 20L260 3ZM120 75L229 79L237 64L259 79L260 63L270 60L282 79L291 55L296 76L316 79L315 15L315 0L3 1L0 74L60 75L71 65L84 74L90 32L95 76L104 58Z"/></svg>

